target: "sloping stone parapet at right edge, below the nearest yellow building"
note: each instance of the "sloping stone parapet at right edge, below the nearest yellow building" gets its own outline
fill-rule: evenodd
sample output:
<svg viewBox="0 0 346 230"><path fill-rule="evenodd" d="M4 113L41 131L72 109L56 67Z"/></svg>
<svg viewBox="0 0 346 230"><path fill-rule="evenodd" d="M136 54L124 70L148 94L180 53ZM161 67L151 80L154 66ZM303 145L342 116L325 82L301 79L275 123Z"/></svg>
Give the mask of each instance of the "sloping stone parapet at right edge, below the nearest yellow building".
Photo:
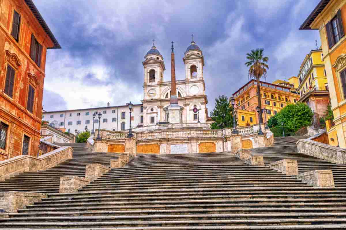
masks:
<svg viewBox="0 0 346 230"><path fill-rule="evenodd" d="M346 149L311 140L314 137L315 136L309 139L298 140L298 152L304 152L311 156L337 164L346 164Z"/></svg>

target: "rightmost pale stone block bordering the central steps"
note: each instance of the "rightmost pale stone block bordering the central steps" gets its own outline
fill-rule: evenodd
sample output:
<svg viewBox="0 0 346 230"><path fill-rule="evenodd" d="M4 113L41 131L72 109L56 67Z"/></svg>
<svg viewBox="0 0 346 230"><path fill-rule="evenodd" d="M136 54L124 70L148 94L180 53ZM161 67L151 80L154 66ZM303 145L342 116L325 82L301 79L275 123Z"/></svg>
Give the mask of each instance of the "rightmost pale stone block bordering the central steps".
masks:
<svg viewBox="0 0 346 230"><path fill-rule="evenodd" d="M299 173L298 180L302 180L304 183L308 183L313 187L318 188L334 188L333 171L331 170L314 170L304 173Z"/></svg>

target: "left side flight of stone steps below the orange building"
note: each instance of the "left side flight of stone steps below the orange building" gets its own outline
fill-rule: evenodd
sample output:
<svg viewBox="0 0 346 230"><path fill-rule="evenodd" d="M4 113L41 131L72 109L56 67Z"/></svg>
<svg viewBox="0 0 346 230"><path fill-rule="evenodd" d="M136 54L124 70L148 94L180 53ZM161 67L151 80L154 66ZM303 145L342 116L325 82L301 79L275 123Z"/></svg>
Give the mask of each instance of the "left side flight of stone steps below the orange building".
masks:
<svg viewBox="0 0 346 230"><path fill-rule="evenodd" d="M24 172L5 181L0 181L0 192L58 193L60 177L84 177L87 164L100 163L109 167L110 159L117 159L117 154L89 151L86 148L86 143L58 143L57 145L71 146L73 148L73 159L66 160L44 171Z"/></svg>

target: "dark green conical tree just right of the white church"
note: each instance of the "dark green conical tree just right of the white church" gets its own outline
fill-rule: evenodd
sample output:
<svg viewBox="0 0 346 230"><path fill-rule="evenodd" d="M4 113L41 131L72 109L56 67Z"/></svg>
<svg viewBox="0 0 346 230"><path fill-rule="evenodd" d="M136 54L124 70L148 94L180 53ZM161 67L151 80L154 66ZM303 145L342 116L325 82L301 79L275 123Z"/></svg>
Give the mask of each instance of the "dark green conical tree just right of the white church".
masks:
<svg viewBox="0 0 346 230"><path fill-rule="evenodd" d="M224 129L233 127L232 107L229 105L227 96L221 95L215 99L215 108L210 113L212 129Z"/></svg>

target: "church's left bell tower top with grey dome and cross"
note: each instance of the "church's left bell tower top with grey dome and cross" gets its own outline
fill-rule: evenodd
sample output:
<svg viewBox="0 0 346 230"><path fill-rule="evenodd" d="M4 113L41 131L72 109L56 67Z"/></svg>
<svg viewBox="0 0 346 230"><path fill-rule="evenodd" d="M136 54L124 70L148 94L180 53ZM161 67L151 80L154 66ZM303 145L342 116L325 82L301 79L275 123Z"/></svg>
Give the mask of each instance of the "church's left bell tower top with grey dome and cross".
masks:
<svg viewBox="0 0 346 230"><path fill-rule="evenodd" d="M156 48L153 40L152 48L144 56L144 85L160 84L163 82L163 71L166 70L163 57Z"/></svg>

